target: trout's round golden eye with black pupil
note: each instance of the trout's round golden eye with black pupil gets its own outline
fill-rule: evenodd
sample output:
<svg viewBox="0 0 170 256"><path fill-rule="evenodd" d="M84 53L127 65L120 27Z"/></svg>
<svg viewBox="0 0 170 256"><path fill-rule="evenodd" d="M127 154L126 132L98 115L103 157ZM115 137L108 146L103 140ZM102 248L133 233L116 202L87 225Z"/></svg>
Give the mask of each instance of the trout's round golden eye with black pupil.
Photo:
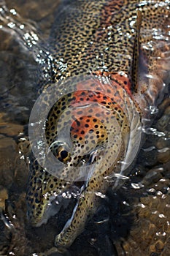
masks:
<svg viewBox="0 0 170 256"><path fill-rule="evenodd" d="M69 147L62 141L54 141L49 148L53 155L61 162L69 162L71 154L69 153Z"/></svg>

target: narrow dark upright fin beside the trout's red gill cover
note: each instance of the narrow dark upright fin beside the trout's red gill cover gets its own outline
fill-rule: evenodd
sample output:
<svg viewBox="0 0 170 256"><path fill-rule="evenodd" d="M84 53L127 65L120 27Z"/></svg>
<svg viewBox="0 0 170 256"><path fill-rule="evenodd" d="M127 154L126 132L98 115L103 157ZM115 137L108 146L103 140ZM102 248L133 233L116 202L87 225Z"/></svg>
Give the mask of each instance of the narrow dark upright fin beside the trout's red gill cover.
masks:
<svg viewBox="0 0 170 256"><path fill-rule="evenodd" d="M137 11L137 20L136 20L136 35L134 39L134 53L133 53L133 63L131 69L131 83L132 89L134 92L138 88L138 67L139 67L139 45L140 45L140 29L142 23L142 12Z"/></svg>

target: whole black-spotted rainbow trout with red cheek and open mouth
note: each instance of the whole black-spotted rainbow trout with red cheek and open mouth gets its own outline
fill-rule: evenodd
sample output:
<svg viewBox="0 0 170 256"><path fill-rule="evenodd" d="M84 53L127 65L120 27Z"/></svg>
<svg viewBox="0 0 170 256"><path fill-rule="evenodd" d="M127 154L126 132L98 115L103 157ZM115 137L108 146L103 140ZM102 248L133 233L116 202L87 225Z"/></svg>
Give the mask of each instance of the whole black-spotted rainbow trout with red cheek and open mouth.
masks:
<svg viewBox="0 0 170 256"><path fill-rule="evenodd" d="M73 243L98 198L129 174L142 128L169 82L169 7L167 0L72 0L58 8L49 39L50 79L36 105L37 118L47 115L47 158L36 154L38 132L27 192L36 226L59 211L62 198L76 198L55 238L58 248Z"/></svg>

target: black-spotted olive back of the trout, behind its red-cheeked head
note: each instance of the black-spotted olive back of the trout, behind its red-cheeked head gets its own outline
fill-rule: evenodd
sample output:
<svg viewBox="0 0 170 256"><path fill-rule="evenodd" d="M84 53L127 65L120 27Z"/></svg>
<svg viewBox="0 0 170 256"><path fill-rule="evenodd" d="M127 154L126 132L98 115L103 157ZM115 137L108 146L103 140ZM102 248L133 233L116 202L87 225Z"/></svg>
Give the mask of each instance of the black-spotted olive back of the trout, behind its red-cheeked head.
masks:
<svg viewBox="0 0 170 256"><path fill-rule="evenodd" d="M50 36L53 80L96 71L123 71L131 78L136 8L142 12L140 42L144 59L147 69L154 69L150 57L159 50L159 34L168 34L168 6L168 1L64 1Z"/></svg>

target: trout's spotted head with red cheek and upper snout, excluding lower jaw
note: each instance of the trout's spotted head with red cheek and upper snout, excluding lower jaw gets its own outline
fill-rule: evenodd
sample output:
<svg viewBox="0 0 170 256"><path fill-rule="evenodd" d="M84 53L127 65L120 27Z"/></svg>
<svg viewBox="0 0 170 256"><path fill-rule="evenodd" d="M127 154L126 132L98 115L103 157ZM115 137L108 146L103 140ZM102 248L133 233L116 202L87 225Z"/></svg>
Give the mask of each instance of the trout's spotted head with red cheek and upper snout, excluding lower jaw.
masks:
<svg viewBox="0 0 170 256"><path fill-rule="evenodd" d="M32 223L47 222L61 208L62 198L66 205L88 181L104 180L116 170L128 145L131 104L123 86L107 78L78 81L71 92L61 94L45 121L50 164L31 163L27 202Z"/></svg>

